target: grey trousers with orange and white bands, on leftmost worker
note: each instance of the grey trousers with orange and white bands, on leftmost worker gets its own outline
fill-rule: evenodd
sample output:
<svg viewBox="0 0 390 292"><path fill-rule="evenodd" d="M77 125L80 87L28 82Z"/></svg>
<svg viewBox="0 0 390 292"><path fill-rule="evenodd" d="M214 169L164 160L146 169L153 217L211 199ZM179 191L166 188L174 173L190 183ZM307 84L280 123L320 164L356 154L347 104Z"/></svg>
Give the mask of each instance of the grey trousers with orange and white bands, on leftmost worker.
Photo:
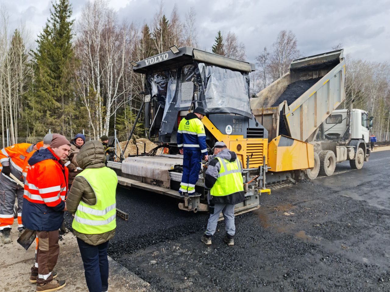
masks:
<svg viewBox="0 0 390 292"><path fill-rule="evenodd" d="M0 172L0 230L14 222L15 198L18 199L18 230L23 229L22 208L24 189Z"/></svg>

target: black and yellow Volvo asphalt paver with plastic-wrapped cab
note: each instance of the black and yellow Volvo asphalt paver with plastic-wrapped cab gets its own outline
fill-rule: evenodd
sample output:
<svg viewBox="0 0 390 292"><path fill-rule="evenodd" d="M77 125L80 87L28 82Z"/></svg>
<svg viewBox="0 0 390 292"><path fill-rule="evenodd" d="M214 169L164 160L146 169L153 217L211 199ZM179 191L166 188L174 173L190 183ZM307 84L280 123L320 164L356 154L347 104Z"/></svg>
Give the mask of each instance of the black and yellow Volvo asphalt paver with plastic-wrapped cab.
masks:
<svg viewBox="0 0 390 292"><path fill-rule="evenodd" d="M208 190L204 188L202 172L195 186L200 196L181 197L178 193L183 155L176 141L181 119L195 107L203 106L209 154L216 141L223 141L237 153L245 168L246 199L236 205L235 213L259 208L259 196L269 192L265 187L268 131L250 108L249 73L255 65L188 46L175 47L132 65L134 72L145 77L145 99L137 119L143 111L149 139L160 145L144 155L109 161L108 166L119 176L119 184L177 198L183 210L207 211Z"/></svg>

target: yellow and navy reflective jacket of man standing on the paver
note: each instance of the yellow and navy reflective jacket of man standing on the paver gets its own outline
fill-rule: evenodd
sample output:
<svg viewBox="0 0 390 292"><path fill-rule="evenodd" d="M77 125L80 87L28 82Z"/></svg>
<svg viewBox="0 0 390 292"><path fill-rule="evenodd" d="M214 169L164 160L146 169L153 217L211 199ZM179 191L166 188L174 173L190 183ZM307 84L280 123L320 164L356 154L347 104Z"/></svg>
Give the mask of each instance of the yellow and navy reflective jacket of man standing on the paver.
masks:
<svg viewBox="0 0 390 292"><path fill-rule="evenodd" d="M207 155L204 125L194 113L187 114L180 121L177 130L177 147L184 150L200 150L203 155Z"/></svg>

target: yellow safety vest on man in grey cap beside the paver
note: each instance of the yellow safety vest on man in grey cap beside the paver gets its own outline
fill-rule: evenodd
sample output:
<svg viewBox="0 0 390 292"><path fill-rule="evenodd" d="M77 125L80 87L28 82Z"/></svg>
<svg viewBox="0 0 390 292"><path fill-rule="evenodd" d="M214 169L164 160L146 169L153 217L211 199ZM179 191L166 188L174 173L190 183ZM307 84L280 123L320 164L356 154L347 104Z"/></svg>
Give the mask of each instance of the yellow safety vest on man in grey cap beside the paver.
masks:
<svg viewBox="0 0 390 292"><path fill-rule="evenodd" d="M232 193L242 192L243 176L241 174L241 164L238 158L235 161L225 160L216 157L220 163L219 176L210 190L210 194L216 197L227 196Z"/></svg>

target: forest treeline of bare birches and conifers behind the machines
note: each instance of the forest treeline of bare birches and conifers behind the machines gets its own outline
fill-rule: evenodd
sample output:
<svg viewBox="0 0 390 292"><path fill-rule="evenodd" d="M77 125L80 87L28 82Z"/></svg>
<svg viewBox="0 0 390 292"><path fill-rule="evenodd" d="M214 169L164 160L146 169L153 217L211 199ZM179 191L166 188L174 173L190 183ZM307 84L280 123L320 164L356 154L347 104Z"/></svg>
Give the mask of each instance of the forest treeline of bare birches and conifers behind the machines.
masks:
<svg viewBox="0 0 390 292"><path fill-rule="evenodd" d="M85 134L95 139L112 135L116 129L119 139L125 139L144 90L144 76L134 73L129 62L168 51L173 44L246 60L245 45L231 31L216 32L215 42L209 47L199 45L194 7L179 15L174 5L166 14L161 2L154 17L139 24L119 19L104 0L87 2L80 17L74 19L69 0L57 0L37 37L29 35L23 25L10 27L5 6L0 14L3 143L7 129L12 144L19 137L43 136L49 129L67 136L85 129ZM324 51L340 47L338 44ZM279 32L275 42L264 47L256 58L251 94L283 76L291 61L302 54L293 32ZM355 99L355 107L375 117L374 132L388 132L388 63L348 55L346 60L346 103ZM136 129L137 136L146 134L142 123Z"/></svg>

